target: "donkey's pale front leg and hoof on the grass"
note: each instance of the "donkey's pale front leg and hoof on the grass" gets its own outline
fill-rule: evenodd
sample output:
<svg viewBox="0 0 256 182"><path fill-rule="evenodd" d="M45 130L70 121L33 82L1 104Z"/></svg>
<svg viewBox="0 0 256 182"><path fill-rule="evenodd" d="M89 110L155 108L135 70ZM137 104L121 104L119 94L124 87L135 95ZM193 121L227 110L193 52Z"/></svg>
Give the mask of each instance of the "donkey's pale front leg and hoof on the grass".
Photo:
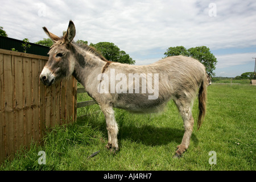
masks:
<svg viewBox="0 0 256 182"><path fill-rule="evenodd" d="M106 129L108 130L108 144L106 148L111 149L111 152L115 152L118 150L118 126L117 122L115 122L115 115L112 106L101 106L101 110L106 118Z"/></svg>

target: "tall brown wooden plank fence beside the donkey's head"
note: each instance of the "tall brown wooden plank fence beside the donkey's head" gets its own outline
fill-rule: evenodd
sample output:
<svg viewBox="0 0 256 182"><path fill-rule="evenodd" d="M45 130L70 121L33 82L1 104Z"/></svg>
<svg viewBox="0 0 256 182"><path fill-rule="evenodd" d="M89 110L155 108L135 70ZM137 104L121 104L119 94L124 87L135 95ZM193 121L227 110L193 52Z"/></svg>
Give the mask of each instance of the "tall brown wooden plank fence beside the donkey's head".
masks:
<svg viewBox="0 0 256 182"><path fill-rule="evenodd" d="M40 144L47 128L76 119L76 79L44 86L47 60L0 49L0 163L31 141Z"/></svg>

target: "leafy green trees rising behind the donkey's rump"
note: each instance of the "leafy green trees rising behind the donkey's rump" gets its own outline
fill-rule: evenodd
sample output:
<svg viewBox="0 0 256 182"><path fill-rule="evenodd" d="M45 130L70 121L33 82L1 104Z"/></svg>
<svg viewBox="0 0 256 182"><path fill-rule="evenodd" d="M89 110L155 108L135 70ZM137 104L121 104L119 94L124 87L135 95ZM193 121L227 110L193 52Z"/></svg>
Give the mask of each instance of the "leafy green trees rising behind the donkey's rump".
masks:
<svg viewBox="0 0 256 182"><path fill-rule="evenodd" d="M195 48L192 47L189 49L186 49L183 46L169 47L167 49L167 52L164 53L164 55L166 55L166 57L177 55L193 57L204 64L206 71L209 75L215 75L213 71L216 68L215 65L217 64L217 59L213 55L213 53L210 52L210 49L206 46Z"/></svg>

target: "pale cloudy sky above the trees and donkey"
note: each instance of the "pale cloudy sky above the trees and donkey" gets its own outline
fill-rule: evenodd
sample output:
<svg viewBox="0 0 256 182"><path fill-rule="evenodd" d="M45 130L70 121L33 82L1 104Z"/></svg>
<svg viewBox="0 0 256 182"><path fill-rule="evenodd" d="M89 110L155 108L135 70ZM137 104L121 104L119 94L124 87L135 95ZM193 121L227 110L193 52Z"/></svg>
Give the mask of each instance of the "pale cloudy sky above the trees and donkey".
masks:
<svg viewBox="0 0 256 182"><path fill-rule="evenodd" d="M69 20L75 40L112 42L135 60L154 63L169 47L207 46L217 58L216 76L253 72L256 57L256 1L1 1L0 26L10 38L34 43L60 36Z"/></svg>

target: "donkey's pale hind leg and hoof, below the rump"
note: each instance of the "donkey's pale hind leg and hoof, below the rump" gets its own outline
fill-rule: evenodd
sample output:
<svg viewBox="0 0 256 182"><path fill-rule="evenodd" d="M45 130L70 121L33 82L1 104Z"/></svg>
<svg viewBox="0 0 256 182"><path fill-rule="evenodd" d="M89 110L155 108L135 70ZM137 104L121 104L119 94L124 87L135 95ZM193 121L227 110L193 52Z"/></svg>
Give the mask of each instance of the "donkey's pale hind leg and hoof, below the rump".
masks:
<svg viewBox="0 0 256 182"><path fill-rule="evenodd" d="M180 111L180 115L183 118L185 133L183 135L181 144L177 146L177 151L175 152L175 158L180 158L180 156L187 150L190 138L193 131L194 119L192 115L192 102L185 100L184 98L179 98L174 100L176 106Z"/></svg>

